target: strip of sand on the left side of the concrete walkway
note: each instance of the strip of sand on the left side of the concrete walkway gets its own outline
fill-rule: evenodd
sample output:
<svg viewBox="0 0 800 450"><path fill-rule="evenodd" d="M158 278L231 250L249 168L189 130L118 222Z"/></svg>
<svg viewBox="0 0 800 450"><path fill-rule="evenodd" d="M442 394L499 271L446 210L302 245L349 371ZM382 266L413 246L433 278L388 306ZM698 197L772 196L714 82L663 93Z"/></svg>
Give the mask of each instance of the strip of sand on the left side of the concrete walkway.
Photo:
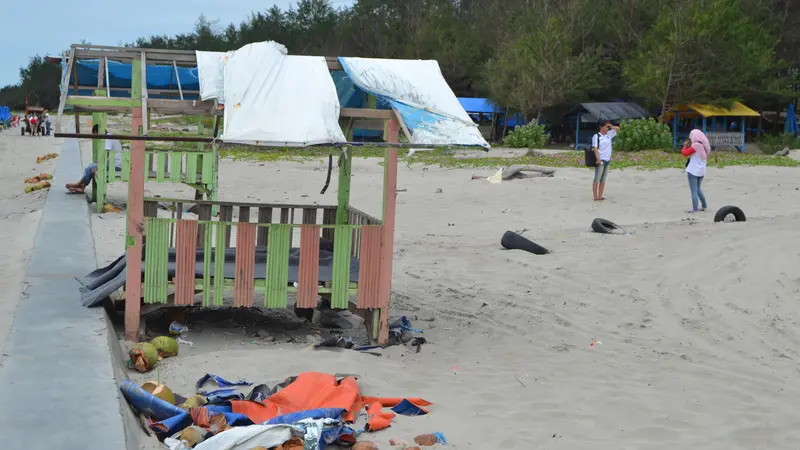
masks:
<svg viewBox="0 0 800 450"><path fill-rule="evenodd" d="M57 160L37 164L36 157L59 153L62 142L21 136L18 128L0 132L0 349L5 348L14 312L24 298L25 271L47 196L46 190L26 194L24 180L42 172L52 174Z"/></svg>

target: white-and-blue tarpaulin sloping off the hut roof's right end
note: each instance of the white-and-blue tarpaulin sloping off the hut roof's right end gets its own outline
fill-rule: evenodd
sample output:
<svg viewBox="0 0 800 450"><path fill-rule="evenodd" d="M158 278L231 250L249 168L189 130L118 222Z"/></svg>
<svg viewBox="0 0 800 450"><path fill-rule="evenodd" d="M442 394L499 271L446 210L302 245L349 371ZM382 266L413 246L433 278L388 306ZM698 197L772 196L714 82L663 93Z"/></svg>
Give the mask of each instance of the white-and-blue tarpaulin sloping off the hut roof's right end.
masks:
<svg viewBox="0 0 800 450"><path fill-rule="evenodd" d="M489 148L438 62L345 57L339 61L356 86L388 100L400 113L412 143Z"/></svg>

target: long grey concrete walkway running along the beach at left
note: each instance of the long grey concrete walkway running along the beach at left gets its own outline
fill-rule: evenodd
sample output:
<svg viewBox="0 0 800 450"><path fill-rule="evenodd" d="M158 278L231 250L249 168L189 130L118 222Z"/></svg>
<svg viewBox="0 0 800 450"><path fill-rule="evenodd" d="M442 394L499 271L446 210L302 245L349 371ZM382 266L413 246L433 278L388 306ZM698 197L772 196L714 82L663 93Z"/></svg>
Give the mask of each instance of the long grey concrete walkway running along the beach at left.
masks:
<svg viewBox="0 0 800 450"><path fill-rule="evenodd" d="M104 313L81 306L75 280L96 268L86 199L67 195L62 187L81 171L78 143L69 140L58 159L25 276L26 296L0 366L3 449L126 445Z"/></svg>

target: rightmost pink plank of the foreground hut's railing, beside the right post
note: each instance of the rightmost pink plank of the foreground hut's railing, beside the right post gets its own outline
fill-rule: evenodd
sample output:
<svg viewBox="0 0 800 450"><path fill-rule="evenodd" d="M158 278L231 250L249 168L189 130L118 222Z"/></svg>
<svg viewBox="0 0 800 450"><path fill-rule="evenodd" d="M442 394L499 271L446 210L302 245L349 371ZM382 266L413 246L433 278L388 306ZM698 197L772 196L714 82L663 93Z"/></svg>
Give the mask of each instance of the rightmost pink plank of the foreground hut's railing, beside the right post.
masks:
<svg viewBox="0 0 800 450"><path fill-rule="evenodd" d="M361 229L361 254L359 255L358 295L359 308L384 308L389 306L380 295L381 239L383 227L364 226Z"/></svg>

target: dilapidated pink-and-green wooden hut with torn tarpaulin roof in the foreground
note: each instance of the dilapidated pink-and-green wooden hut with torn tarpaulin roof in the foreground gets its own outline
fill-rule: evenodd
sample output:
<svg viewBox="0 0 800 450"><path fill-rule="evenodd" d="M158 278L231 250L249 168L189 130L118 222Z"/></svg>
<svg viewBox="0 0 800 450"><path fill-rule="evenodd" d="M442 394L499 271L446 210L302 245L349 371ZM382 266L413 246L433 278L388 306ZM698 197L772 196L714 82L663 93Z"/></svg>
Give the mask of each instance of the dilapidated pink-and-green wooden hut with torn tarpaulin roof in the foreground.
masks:
<svg viewBox="0 0 800 450"><path fill-rule="evenodd" d="M113 263L122 267L121 275L108 281L125 288L125 336L132 341L138 339L141 313L149 307L232 304L248 308L258 305L258 294L258 306L265 308L287 307L290 295L299 309L316 308L320 298L332 309L353 307L365 318L370 339L386 343L398 148L489 147L436 61L293 56L275 42L253 43L225 53L73 45L65 61L55 137L130 141L125 157L129 165L125 255ZM81 85L84 78L78 72L86 68L81 61L97 67L97 76L92 78L96 85ZM129 79L130 90L104 76L107 67L119 67L120 74ZM151 84L163 82L162 78L150 81L151 76L170 77L173 72L171 85ZM189 93L182 92L184 73L195 72L199 92L191 94L200 98L187 99ZM335 83L332 72L345 72L353 93L365 99L367 107L342 107L342 103L362 102L343 102L342 91L348 89ZM391 83L401 72L407 83ZM109 85L110 91L106 90ZM88 90L93 95L82 95ZM390 109L369 107L379 103L376 97ZM411 104L405 98L419 100ZM107 112L129 111L131 134L80 133L77 124L74 133L65 132L61 119L67 106L77 113L92 113L95 123ZM212 118L213 134L148 134L151 112ZM220 130L223 115L224 129ZM370 144L384 148L383 205L380 213L370 215L350 205L350 148L359 145L352 142L353 129L366 128L359 122L374 120L386 124L385 142ZM408 144L400 143L400 133ZM186 159L192 149L146 148L151 142L194 142L212 149L220 142L295 148L324 145L339 156L337 202L148 198L144 181L149 162L156 162L156 176L165 180L181 180L182 174L199 169ZM189 213L187 204L196 205L196 213ZM219 209L218 216L212 214L213 208Z"/></svg>

